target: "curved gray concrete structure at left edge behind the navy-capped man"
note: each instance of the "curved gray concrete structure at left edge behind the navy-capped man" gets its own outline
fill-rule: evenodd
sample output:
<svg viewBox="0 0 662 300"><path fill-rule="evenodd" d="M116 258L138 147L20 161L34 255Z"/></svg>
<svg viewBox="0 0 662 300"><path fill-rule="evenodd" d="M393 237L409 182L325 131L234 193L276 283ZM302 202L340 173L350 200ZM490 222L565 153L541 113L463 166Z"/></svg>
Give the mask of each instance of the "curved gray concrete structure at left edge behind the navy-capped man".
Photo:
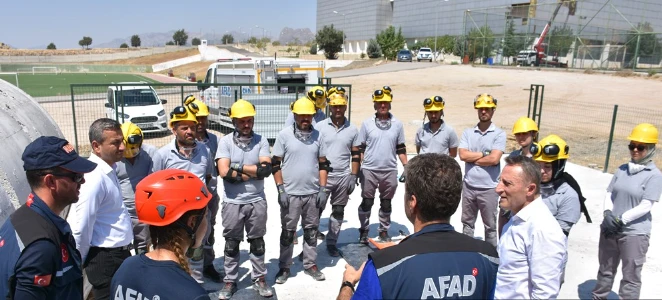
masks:
<svg viewBox="0 0 662 300"><path fill-rule="evenodd" d="M30 142L43 135L63 137L55 121L32 97L0 80L0 224L30 193L21 155Z"/></svg>

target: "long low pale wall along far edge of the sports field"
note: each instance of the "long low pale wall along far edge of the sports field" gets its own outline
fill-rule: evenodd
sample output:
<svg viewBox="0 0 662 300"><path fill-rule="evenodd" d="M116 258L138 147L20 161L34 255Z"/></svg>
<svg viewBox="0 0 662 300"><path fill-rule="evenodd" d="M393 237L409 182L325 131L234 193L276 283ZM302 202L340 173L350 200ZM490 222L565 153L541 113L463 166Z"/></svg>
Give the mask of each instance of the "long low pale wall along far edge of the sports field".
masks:
<svg viewBox="0 0 662 300"><path fill-rule="evenodd" d="M126 52L115 52L108 54L81 54L81 55L51 55L51 56L0 56L0 63L79 63L92 61L106 61L116 59L128 59L154 54L177 52L190 49L186 46L166 46Z"/></svg>

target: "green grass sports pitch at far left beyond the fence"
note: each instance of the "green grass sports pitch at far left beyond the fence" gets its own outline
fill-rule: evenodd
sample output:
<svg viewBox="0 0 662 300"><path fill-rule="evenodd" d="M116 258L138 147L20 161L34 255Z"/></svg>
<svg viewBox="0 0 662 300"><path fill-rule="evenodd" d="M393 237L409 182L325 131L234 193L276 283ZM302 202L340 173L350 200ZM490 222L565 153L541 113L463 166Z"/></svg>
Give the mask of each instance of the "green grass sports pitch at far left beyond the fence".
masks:
<svg viewBox="0 0 662 300"><path fill-rule="evenodd" d="M16 85L13 74L1 74L0 79ZM32 97L71 95L70 84L94 83L110 84L113 82L156 83L149 78L124 73L62 73L62 74L18 74L19 87Z"/></svg>

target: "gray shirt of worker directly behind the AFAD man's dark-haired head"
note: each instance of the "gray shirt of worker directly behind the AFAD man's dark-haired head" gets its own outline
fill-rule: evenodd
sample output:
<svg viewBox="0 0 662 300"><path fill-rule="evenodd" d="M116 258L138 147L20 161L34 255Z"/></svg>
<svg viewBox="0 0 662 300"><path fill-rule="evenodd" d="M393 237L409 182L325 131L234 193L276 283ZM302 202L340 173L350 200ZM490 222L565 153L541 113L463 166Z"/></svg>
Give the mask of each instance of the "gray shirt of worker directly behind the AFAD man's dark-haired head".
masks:
<svg viewBox="0 0 662 300"><path fill-rule="evenodd" d="M453 127L446 124L446 122L441 123L439 129L435 132L430 129L430 123L425 123L416 132L415 143L421 149L419 154L439 153L448 155L451 148L457 148L459 140Z"/></svg>

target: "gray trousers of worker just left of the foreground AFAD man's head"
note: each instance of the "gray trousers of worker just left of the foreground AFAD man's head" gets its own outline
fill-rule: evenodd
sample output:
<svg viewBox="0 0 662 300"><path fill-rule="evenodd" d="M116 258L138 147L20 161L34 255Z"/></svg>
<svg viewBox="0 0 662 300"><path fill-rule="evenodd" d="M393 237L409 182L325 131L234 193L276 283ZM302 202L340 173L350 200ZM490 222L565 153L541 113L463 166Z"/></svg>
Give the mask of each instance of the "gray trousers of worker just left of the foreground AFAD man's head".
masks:
<svg viewBox="0 0 662 300"><path fill-rule="evenodd" d="M363 199L375 199L377 189L379 189L380 203L381 200L388 199L388 201L391 201L393 199L395 190L398 188L398 171L361 170L361 174L363 175L363 181L361 183L361 197ZM359 205L360 230L368 230L371 213L372 210L363 211ZM380 207L378 231L388 231L389 227L391 227L391 212L383 211Z"/></svg>

